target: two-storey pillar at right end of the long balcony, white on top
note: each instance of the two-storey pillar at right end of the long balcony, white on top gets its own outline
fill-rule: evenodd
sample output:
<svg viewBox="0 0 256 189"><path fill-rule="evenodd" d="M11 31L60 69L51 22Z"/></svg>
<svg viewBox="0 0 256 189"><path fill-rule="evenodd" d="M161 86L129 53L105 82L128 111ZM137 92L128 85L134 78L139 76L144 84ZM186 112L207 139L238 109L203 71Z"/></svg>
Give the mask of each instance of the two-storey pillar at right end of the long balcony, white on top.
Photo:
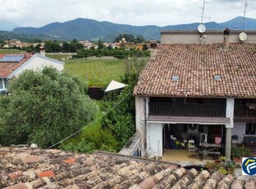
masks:
<svg viewBox="0 0 256 189"><path fill-rule="evenodd" d="M231 158L231 135L234 127L235 99L226 99L225 117L230 118L230 123L225 124L225 157Z"/></svg>

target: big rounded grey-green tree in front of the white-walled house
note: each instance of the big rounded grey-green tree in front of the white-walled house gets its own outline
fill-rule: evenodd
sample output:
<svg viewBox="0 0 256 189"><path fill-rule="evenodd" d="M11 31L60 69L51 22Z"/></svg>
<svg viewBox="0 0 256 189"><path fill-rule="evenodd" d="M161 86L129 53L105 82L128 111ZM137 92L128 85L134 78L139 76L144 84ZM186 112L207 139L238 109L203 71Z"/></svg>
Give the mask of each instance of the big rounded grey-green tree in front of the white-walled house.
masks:
<svg viewBox="0 0 256 189"><path fill-rule="evenodd" d="M0 97L0 144L53 145L91 121L97 106L87 85L53 67L27 70Z"/></svg>

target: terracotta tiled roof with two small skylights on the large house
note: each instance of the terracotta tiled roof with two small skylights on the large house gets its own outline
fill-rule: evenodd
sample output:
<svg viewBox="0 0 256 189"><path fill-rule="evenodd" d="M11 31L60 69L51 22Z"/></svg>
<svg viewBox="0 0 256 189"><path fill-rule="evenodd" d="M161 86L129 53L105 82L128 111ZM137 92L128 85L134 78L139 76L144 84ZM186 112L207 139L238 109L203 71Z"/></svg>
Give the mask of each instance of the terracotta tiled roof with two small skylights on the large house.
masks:
<svg viewBox="0 0 256 189"><path fill-rule="evenodd" d="M256 44L161 44L134 95L256 98ZM219 75L220 80L214 76ZM178 81L172 81L178 76Z"/></svg>

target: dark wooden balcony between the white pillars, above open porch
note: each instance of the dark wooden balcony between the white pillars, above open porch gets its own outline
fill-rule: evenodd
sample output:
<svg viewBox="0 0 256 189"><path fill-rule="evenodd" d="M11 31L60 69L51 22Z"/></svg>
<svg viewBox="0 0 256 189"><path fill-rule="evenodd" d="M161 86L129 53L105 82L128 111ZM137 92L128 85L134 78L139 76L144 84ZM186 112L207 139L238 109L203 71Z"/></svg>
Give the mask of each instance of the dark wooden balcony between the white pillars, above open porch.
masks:
<svg viewBox="0 0 256 189"><path fill-rule="evenodd" d="M225 104L149 103L149 115L225 118Z"/></svg>

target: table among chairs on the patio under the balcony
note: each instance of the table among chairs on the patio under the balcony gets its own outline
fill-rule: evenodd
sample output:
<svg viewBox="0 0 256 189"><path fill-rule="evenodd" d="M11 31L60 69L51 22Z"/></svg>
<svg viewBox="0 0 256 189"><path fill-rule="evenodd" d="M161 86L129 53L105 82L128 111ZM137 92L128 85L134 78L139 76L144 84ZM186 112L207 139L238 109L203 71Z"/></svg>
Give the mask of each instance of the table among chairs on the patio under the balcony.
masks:
<svg viewBox="0 0 256 189"><path fill-rule="evenodd" d="M207 154L213 155L214 159L218 159L220 156L219 149L222 147L221 144L209 144L209 143L201 143L201 150L198 151L199 156L201 157L201 161L203 160L203 156Z"/></svg>

